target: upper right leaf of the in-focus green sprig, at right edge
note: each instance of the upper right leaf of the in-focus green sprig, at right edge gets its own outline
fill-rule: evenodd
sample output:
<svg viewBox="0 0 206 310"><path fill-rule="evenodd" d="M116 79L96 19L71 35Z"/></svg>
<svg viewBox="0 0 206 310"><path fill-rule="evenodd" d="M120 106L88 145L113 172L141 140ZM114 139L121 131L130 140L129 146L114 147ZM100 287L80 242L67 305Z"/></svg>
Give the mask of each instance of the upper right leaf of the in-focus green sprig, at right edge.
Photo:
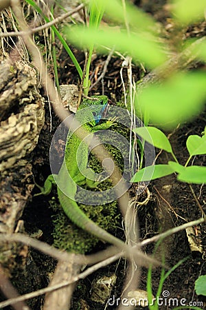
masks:
<svg viewBox="0 0 206 310"><path fill-rule="evenodd" d="M187 138L187 149L190 156L206 154L206 138L204 136L191 135Z"/></svg>

